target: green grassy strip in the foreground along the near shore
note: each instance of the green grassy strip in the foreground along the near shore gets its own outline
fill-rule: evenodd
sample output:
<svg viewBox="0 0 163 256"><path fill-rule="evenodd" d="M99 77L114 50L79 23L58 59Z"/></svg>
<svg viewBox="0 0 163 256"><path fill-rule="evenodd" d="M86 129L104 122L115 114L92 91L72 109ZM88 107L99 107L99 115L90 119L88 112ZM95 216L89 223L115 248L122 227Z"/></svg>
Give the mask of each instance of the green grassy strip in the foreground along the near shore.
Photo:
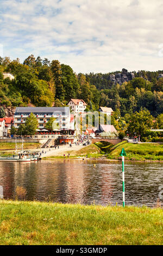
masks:
<svg viewBox="0 0 163 256"><path fill-rule="evenodd" d="M1 245L162 245L162 209L0 201Z"/></svg>

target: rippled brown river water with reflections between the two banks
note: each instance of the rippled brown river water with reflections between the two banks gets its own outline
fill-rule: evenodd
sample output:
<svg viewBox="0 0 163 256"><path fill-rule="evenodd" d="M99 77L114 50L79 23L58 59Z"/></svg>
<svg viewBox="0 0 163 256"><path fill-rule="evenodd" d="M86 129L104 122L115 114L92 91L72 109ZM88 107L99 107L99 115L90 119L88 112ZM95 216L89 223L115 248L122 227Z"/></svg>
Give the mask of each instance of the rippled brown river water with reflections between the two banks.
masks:
<svg viewBox="0 0 163 256"><path fill-rule="evenodd" d="M20 186L26 188L26 200L122 205L122 163L99 160L0 162L0 186L4 199L14 198ZM163 163L125 163L126 205L153 207L158 199L162 205L161 186L163 190Z"/></svg>

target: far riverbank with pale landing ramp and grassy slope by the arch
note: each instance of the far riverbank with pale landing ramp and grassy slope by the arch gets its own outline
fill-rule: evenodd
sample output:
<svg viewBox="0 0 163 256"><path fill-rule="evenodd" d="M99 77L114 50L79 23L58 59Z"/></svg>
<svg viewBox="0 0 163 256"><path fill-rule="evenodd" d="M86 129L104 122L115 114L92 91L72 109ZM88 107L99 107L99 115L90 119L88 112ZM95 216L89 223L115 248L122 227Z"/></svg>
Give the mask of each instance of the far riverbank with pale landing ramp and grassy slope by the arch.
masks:
<svg viewBox="0 0 163 256"><path fill-rule="evenodd" d="M121 160L120 153L122 148L126 150L127 161L143 162L162 162L163 161L163 144L159 143L142 143L134 144L121 142L112 145L108 142L98 142L87 147L76 146L61 147L60 150L53 150L43 155L43 159L99 159L99 160ZM65 154L65 156L64 156ZM69 156L67 156L70 154Z"/></svg>

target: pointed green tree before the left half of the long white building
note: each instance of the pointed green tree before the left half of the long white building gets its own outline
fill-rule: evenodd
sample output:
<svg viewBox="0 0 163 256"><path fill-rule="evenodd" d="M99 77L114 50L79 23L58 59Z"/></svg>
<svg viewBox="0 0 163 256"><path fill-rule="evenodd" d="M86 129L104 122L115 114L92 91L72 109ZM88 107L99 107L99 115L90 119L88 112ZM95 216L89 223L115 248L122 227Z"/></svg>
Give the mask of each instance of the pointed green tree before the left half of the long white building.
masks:
<svg viewBox="0 0 163 256"><path fill-rule="evenodd" d="M30 116L27 117L25 123L25 133L26 135L35 135L36 129L38 126L37 118L33 113L30 113Z"/></svg>

